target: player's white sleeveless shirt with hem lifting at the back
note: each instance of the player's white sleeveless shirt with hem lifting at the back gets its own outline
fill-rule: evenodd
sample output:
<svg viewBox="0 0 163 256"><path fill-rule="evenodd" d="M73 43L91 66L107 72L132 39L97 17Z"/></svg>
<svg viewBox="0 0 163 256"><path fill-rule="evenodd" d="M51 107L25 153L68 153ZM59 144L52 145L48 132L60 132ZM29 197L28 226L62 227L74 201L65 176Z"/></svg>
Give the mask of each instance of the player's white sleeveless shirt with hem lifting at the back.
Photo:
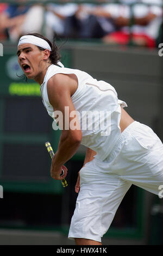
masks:
<svg viewBox="0 0 163 256"><path fill-rule="evenodd" d="M104 160L121 134L121 106L127 104L118 100L115 88L107 82L97 81L81 70L52 64L40 87L43 104L51 117L54 117L54 110L49 103L47 82L55 74L77 76L78 88L71 99L82 130L81 144L96 151L98 157Z"/></svg>

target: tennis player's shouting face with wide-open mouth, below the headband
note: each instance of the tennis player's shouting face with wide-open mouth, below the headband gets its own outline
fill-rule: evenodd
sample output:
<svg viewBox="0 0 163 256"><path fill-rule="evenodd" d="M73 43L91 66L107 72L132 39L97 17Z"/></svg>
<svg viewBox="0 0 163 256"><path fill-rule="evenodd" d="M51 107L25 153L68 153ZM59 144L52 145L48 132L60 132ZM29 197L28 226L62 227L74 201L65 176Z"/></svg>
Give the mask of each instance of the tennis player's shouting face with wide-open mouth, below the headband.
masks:
<svg viewBox="0 0 163 256"><path fill-rule="evenodd" d="M41 74L43 51L36 45L21 44L17 48L18 63L29 79L35 79Z"/></svg>

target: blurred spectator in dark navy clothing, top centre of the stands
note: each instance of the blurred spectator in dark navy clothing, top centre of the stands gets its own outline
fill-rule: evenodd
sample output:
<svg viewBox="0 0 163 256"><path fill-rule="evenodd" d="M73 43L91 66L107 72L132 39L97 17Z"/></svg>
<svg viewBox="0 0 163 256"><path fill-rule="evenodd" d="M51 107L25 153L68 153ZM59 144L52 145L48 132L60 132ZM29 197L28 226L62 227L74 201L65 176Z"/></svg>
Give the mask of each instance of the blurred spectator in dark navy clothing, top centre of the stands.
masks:
<svg viewBox="0 0 163 256"><path fill-rule="evenodd" d="M100 5L80 4L76 13L66 19L67 37L102 38L113 31L114 21Z"/></svg>

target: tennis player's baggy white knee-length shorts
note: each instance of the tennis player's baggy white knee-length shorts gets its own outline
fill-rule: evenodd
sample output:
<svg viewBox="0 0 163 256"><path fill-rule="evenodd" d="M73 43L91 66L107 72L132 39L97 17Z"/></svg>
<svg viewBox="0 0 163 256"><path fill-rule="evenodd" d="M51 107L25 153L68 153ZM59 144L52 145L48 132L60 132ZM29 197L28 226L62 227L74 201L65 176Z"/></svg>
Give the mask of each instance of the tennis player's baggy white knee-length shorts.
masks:
<svg viewBox="0 0 163 256"><path fill-rule="evenodd" d="M136 121L122 132L104 161L96 155L80 170L68 238L101 242L131 184L156 195L163 185L163 144L151 128Z"/></svg>

